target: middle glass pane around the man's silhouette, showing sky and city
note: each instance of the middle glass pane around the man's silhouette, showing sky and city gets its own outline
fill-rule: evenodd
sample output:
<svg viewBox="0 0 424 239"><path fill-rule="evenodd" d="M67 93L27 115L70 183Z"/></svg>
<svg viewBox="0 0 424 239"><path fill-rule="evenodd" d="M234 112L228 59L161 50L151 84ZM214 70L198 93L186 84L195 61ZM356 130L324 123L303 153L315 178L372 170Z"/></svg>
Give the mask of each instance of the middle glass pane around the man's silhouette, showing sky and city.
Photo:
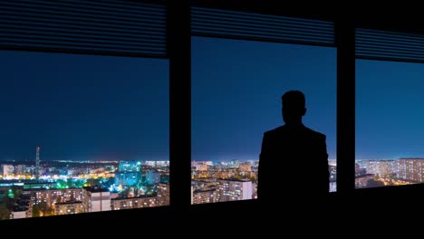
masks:
<svg viewBox="0 0 424 239"><path fill-rule="evenodd" d="M334 191L336 50L192 37L192 204L256 198L263 135L284 124L281 96L290 90L304 92L304 125L326 135ZM295 185L307 164L275 163L294 176L278 186Z"/></svg>

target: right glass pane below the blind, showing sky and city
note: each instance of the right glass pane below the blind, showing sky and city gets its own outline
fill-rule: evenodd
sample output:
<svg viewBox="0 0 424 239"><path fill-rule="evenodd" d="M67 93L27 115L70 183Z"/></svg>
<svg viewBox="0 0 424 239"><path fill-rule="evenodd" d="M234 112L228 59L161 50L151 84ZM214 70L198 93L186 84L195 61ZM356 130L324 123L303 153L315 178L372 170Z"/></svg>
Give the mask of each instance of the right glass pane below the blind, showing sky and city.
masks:
<svg viewBox="0 0 424 239"><path fill-rule="evenodd" d="M356 188L424 181L419 63L356 61Z"/></svg>

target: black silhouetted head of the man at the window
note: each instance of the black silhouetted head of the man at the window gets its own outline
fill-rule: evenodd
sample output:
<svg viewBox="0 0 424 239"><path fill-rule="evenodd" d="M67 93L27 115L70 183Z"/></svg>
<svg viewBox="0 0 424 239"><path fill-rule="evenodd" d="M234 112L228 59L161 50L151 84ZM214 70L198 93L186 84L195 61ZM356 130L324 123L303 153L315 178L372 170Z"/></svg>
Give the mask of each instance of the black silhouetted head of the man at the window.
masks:
<svg viewBox="0 0 424 239"><path fill-rule="evenodd" d="M283 101L283 120L286 124L301 123L306 113L304 93L302 91L287 91L281 97Z"/></svg>

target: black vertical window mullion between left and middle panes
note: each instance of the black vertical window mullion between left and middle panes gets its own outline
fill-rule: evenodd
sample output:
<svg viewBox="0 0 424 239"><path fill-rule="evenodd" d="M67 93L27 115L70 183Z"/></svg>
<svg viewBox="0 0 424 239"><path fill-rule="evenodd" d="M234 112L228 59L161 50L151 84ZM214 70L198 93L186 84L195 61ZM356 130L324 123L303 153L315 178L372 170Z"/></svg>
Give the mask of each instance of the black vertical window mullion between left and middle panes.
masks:
<svg viewBox="0 0 424 239"><path fill-rule="evenodd" d="M191 205L191 36L188 3L168 5L169 205Z"/></svg>

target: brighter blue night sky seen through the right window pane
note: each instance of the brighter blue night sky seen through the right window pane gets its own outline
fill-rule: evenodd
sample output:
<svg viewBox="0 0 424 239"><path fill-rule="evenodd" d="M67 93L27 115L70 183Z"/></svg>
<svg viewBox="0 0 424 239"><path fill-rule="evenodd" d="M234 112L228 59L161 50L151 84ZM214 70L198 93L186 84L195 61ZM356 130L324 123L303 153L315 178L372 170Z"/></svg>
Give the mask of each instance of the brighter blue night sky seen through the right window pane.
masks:
<svg viewBox="0 0 424 239"><path fill-rule="evenodd" d="M356 158L424 158L424 65L356 61Z"/></svg>

